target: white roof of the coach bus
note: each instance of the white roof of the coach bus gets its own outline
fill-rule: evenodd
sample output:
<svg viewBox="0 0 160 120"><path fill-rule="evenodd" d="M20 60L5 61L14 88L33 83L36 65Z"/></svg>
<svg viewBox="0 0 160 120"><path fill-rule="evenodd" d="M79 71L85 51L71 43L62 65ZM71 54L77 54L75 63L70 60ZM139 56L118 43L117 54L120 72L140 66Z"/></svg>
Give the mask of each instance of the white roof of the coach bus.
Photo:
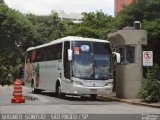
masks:
<svg viewBox="0 0 160 120"><path fill-rule="evenodd" d="M50 46L50 45L53 45L53 44L57 44L57 43L62 43L64 41L92 41L92 42L110 43L109 41L102 40L102 39L84 38L84 37L77 37L77 36L67 36L67 37L64 37L64 38L53 40L53 41L51 41L49 43L46 43L46 44L38 45L38 46L35 46L35 47L29 47L27 49L27 51L34 50L34 49L39 49L39 48L43 48L43 47L47 47L47 46Z"/></svg>

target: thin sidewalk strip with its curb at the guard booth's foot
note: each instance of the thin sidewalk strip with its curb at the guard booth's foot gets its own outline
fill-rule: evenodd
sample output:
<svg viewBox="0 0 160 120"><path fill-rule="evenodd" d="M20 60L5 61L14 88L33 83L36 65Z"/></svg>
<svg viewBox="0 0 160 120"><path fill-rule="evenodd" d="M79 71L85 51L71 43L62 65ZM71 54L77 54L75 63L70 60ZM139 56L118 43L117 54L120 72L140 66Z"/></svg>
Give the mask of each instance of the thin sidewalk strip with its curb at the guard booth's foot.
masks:
<svg viewBox="0 0 160 120"><path fill-rule="evenodd" d="M146 103L146 102L143 102L141 99L121 99L121 98L116 97L115 92L113 92L111 95L99 96L99 97L106 98L106 99L109 99L112 101L124 102L124 103L128 103L128 104L160 108L160 101L157 103Z"/></svg>

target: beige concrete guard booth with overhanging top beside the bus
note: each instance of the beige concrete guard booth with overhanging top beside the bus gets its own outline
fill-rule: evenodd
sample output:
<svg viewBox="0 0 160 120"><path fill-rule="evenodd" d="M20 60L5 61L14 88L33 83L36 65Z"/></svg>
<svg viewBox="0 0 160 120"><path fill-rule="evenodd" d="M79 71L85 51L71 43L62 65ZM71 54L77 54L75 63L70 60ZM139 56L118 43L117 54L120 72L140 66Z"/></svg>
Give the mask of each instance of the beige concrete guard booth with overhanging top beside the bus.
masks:
<svg viewBox="0 0 160 120"><path fill-rule="evenodd" d="M121 63L116 65L116 96L138 98L143 77L142 48L147 45L147 31L137 27L125 27L109 33L113 49L120 53Z"/></svg>

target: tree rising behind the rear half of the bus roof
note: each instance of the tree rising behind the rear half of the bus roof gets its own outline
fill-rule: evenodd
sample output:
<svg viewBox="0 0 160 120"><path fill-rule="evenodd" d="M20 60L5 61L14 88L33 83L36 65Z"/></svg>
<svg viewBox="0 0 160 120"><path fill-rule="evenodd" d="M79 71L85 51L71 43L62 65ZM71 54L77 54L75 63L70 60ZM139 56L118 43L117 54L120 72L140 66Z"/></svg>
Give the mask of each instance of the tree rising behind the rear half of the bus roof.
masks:
<svg viewBox="0 0 160 120"><path fill-rule="evenodd" d="M56 13L52 13L48 16L35 16L28 14L26 17L33 24L39 44L64 37L66 28Z"/></svg>

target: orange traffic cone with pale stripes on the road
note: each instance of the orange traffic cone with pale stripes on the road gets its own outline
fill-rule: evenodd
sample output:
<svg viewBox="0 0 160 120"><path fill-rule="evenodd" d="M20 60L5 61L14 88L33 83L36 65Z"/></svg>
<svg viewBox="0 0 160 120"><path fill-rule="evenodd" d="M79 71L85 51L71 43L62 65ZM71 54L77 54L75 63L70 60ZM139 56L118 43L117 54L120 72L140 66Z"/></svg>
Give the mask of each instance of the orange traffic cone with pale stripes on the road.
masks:
<svg viewBox="0 0 160 120"><path fill-rule="evenodd" d="M16 79L16 81L14 82L14 92L11 102L12 103L25 102L25 98L22 95L22 81L20 79Z"/></svg>

